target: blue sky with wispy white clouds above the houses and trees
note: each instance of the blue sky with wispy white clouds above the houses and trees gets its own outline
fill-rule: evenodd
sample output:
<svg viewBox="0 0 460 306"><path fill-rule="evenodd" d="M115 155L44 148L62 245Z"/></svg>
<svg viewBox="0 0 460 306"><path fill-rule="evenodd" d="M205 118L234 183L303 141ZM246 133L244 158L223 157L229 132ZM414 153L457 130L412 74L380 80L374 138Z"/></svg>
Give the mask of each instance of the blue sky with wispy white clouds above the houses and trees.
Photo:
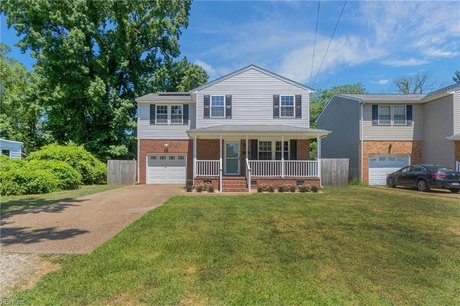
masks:
<svg viewBox="0 0 460 306"><path fill-rule="evenodd" d="M255 64L315 89L361 82L370 93L392 93L395 79L421 72L432 74L433 90L453 82L460 1L344 3L321 1L317 19L318 1L195 1L182 56L210 80ZM1 19L1 40L14 46L19 38ZM11 56L32 68L29 54L13 48Z"/></svg>

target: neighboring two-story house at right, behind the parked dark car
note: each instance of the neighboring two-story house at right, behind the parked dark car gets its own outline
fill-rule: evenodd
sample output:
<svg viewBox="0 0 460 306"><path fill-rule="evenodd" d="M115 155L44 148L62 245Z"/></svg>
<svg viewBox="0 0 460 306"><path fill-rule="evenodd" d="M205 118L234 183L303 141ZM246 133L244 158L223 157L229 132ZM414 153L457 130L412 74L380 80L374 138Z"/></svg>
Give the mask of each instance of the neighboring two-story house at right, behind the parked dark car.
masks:
<svg viewBox="0 0 460 306"><path fill-rule="evenodd" d="M384 185L408 164L458 167L460 84L428 94L335 95L317 120L322 157L349 158L352 177Z"/></svg>

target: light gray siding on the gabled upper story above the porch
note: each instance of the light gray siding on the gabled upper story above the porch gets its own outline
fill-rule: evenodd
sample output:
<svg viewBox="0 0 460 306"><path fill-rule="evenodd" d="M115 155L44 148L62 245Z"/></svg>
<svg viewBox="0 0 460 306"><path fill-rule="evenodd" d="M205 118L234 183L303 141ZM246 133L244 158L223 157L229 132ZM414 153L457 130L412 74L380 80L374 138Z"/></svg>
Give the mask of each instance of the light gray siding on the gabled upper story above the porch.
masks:
<svg viewBox="0 0 460 306"><path fill-rule="evenodd" d="M204 119L204 95L232 95L231 119ZM302 95L302 118L274 119L273 95ZM197 92L197 128L221 124L276 124L310 127L310 92L250 69Z"/></svg>

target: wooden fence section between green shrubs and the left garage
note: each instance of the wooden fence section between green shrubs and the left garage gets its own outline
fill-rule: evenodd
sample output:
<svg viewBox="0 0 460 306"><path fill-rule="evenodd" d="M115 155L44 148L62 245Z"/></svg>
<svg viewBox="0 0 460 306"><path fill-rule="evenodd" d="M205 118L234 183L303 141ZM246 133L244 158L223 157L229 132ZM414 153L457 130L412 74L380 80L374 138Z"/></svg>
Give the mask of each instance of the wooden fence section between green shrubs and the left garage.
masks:
<svg viewBox="0 0 460 306"><path fill-rule="evenodd" d="M108 160L107 184L135 184L136 166L135 160Z"/></svg>

